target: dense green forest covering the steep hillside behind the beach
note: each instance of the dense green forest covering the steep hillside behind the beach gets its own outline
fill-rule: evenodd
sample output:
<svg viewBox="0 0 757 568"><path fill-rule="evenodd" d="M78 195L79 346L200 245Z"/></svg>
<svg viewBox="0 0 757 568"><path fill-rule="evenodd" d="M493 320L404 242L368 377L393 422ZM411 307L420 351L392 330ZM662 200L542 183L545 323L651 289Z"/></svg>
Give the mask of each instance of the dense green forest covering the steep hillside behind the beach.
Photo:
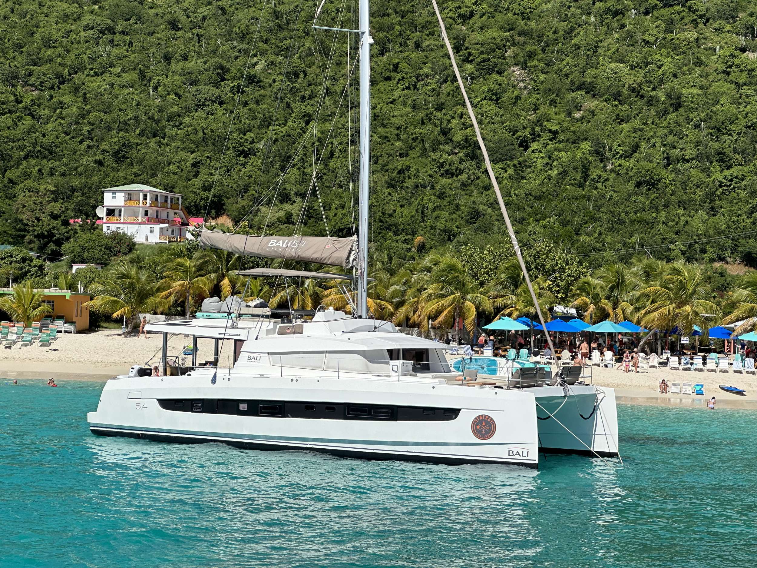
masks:
<svg viewBox="0 0 757 568"><path fill-rule="evenodd" d="M62 256L68 220L132 182L251 231L352 234L358 39L313 30L317 5L3 2L0 243ZM752 2L441 10L525 248L587 255L584 273L637 251L757 265ZM355 27L357 5L318 23ZM375 254L506 241L430 3L373 2L372 36Z"/></svg>

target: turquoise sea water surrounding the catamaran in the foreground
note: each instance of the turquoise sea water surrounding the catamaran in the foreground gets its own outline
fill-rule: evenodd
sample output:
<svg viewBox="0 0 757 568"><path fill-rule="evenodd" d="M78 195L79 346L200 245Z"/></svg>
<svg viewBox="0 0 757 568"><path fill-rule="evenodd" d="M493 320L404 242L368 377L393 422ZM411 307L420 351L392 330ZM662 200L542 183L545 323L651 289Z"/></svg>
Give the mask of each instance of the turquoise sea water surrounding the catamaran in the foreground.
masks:
<svg viewBox="0 0 757 568"><path fill-rule="evenodd" d="M754 566L757 414L621 406L625 466L98 438L101 384L0 381L0 566Z"/></svg>

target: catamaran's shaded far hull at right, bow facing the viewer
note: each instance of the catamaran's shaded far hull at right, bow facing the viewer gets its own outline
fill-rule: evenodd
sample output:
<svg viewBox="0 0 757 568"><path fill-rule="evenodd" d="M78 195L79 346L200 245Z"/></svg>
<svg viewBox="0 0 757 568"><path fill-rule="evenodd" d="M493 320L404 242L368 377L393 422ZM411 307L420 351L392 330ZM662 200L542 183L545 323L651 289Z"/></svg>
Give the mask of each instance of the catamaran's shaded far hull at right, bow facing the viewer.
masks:
<svg viewBox="0 0 757 568"><path fill-rule="evenodd" d="M618 455L615 389L573 385L527 390L536 397L542 451L602 457Z"/></svg>

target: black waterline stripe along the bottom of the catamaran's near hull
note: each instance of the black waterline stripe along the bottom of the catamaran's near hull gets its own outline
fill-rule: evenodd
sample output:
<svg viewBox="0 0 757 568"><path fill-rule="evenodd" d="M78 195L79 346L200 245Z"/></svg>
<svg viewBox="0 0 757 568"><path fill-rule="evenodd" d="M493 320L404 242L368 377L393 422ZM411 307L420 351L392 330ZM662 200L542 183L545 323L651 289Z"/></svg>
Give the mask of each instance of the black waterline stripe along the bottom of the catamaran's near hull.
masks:
<svg viewBox="0 0 757 568"><path fill-rule="evenodd" d="M363 460L397 460L397 461L412 461L422 463L444 463L447 465L462 465L463 463L494 463L498 465L514 465L522 467L530 467L536 469L537 463L518 461L518 460L497 460L497 459L482 459L481 457L473 456L435 456L429 454L403 454L393 453L391 451L362 451L351 448L326 448L322 446L301 446L301 445L286 445L286 444L267 444L265 442L245 442L241 440L234 440L229 438L213 438L211 436L195 436L189 434L172 435L160 432L144 432L138 430L125 430L125 429L107 429L91 426L89 429L92 434L100 436L117 436L124 438L141 438L151 440L153 442L171 442L176 444L202 444L207 442L220 442L234 446L235 448L243 448L247 450L263 450L263 451L284 451L284 450L300 450L300 451L317 451L323 454L331 454L339 457L357 457Z"/></svg>

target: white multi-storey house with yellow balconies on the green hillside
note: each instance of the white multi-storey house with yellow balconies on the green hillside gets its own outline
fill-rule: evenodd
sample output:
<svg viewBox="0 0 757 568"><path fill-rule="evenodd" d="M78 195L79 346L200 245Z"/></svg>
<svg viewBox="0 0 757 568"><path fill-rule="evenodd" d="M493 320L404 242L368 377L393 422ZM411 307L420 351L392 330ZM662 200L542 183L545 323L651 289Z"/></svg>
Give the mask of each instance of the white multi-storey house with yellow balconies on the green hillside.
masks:
<svg viewBox="0 0 757 568"><path fill-rule="evenodd" d="M126 233L135 242L186 240L190 224L182 208L182 194L142 183L111 187L103 192L103 233Z"/></svg>

